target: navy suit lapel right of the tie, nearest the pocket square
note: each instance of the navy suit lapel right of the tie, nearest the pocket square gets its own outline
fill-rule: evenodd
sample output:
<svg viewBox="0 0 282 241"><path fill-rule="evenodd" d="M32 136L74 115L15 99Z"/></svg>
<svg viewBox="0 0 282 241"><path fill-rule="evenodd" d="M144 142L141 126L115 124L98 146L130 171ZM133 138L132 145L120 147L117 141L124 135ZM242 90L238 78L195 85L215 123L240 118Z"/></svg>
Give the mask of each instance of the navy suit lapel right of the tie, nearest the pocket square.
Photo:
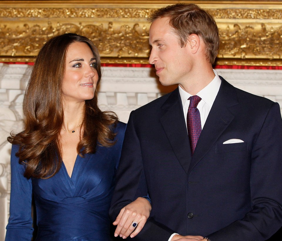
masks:
<svg viewBox="0 0 282 241"><path fill-rule="evenodd" d="M219 136L231 123L234 118L234 114L231 113L230 107L237 104L238 99L235 88L221 77L219 92L216 95L207 121L197 142L197 146L189 166L188 174L207 154Z"/></svg>

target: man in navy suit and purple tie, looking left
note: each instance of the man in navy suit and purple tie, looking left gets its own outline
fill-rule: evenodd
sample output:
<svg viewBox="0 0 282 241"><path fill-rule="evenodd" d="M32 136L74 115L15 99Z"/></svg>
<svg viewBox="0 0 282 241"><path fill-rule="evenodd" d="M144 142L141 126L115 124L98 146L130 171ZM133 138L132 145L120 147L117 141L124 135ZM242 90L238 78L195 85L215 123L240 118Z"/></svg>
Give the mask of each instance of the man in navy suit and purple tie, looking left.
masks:
<svg viewBox="0 0 282 241"><path fill-rule="evenodd" d="M149 61L163 85L179 87L130 114L113 220L148 193L152 211L136 240L267 240L282 225L278 103L212 69L218 29L197 5L167 6L150 22Z"/></svg>

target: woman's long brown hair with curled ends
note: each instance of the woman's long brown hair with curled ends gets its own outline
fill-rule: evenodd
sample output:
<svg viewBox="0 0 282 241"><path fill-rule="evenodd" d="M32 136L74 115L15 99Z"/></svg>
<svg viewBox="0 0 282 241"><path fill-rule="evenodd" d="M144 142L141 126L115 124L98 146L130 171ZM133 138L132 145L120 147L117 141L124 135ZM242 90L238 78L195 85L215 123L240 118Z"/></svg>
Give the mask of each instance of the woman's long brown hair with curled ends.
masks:
<svg viewBox="0 0 282 241"><path fill-rule="evenodd" d="M23 113L25 128L21 133L11 134L8 141L19 145L16 156L26 165L26 178L50 178L62 164L59 135L63 125L62 82L65 75L66 53L73 42L88 44L97 61L98 83L101 79L101 62L98 49L86 37L63 34L49 39L36 58L24 95ZM97 89L94 98L85 101L82 123L83 133L77 146L80 156L95 153L96 146L112 146L118 121L111 111L98 107Z"/></svg>

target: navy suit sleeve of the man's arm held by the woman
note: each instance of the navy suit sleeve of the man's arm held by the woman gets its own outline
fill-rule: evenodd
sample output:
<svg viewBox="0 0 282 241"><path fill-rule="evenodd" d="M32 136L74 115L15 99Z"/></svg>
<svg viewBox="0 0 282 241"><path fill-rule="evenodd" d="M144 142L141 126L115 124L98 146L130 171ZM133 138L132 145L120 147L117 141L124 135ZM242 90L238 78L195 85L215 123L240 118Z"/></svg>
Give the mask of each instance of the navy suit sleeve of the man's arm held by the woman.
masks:
<svg viewBox="0 0 282 241"><path fill-rule="evenodd" d="M134 111L132 111L125 131L120 163L117 170L117 183L110 207L112 221L116 219L120 209L134 201L137 197L147 196L147 194L148 190L140 141L135 130ZM156 222L153 217L150 217L143 230L133 240L167 241L173 233L174 231Z"/></svg>

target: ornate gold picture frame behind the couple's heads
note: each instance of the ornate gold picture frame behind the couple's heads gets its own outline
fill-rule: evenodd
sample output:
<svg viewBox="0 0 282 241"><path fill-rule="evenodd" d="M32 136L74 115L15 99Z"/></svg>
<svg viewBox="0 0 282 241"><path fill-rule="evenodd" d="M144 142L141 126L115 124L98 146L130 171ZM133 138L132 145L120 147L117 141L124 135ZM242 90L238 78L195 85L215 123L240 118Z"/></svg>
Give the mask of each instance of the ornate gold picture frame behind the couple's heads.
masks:
<svg viewBox="0 0 282 241"><path fill-rule="evenodd" d="M0 1L0 61L33 62L47 39L85 35L104 63L148 63L147 17L180 1ZM216 20L216 65L282 66L281 1L181 1L196 3Z"/></svg>

